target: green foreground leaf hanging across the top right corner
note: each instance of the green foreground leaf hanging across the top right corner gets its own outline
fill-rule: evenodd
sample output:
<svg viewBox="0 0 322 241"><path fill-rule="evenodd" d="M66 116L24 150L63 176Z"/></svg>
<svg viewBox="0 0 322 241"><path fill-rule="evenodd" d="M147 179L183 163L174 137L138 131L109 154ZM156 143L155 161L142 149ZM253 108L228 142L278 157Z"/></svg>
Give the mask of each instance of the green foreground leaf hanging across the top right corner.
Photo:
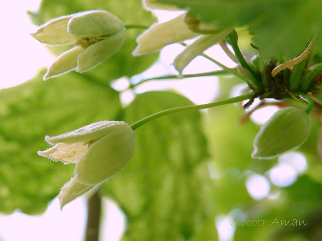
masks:
<svg viewBox="0 0 322 241"><path fill-rule="evenodd" d="M316 36L321 41L322 2L316 0L152 0L152 3L173 5L188 10L195 25L210 23L217 28L249 26L263 60L270 55L293 57L301 53ZM321 46L317 46L322 51Z"/></svg>

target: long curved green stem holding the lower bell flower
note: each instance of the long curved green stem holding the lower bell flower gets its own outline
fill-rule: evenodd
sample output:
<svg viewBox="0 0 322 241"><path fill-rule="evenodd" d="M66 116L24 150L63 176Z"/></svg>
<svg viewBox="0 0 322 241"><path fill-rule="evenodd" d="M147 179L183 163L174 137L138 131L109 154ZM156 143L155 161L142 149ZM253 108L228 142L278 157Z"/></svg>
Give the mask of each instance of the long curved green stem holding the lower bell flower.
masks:
<svg viewBox="0 0 322 241"><path fill-rule="evenodd" d="M244 95L239 95L236 97L232 97L229 99L216 101L216 102L212 102L212 103L208 103L208 104L186 105L186 106L179 106L179 107L174 107L174 108L170 108L170 109L165 109L165 110L156 112L154 114L151 114L149 116L146 116L143 119L140 119L139 121L132 124L130 127L134 131L135 129L139 128L140 126L142 126L150 121L153 121L153 119L162 117L164 115L178 113L178 112L187 111L187 110L206 109L206 108L210 108L210 107L214 107L214 106L218 106L218 105L223 105L223 104L231 104L231 103L243 101L246 99L250 99L254 94L256 94L256 92L253 91L253 92L250 92L250 93L247 93Z"/></svg>

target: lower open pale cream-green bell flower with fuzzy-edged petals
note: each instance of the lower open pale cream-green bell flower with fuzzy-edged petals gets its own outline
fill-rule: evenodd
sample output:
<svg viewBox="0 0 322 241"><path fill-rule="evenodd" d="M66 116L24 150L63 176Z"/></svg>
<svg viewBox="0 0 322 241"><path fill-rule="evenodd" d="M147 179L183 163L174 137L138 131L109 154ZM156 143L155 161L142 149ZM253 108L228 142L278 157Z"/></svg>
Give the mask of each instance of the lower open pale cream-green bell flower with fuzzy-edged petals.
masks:
<svg viewBox="0 0 322 241"><path fill-rule="evenodd" d="M38 154L75 163L75 177L59 194L61 208L121 171L135 151L133 130L125 122L103 121L59 136L46 136L52 148Z"/></svg>

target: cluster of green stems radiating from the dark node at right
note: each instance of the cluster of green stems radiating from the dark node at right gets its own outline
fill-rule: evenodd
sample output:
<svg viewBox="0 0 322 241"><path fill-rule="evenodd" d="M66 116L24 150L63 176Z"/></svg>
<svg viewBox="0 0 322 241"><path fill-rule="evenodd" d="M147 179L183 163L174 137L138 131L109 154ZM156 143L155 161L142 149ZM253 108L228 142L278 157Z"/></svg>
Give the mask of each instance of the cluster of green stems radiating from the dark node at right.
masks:
<svg viewBox="0 0 322 241"><path fill-rule="evenodd" d="M234 53L232 53L227 48L226 41L228 44L230 44ZM238 65L238 68L228 68L227 66L221 64L220 62L216 61L215 59L211 58L210 56L202 53L201 54L202 57L217 64L219 67L222 68L222 70L212 71L212 72L207 72L207 73L183 75L182 77L189 78L189 77L217 76L217 75L224 75L224 74L228 74L228 75L232 74L234 76L243 78L245 80L245 82L249 85L249 87L251 89L253 89L252 92L247 93L245 95L240 95L240 96L236 96L236 97L229 98L226 100L216 101L216 102L212 102L212 103L208 103L208 104L178 106L175 108L162 110L157 113L146 116L143 119L140 119L139 121L132 124L131 128L133 130L135 130L138 127L152 121L153 119L159 118L164 115L172 114L172 113L194 110L194 109L205 109L205 108L210 108L210 107L214 107L214 106L218 106L218 105L235 103L235 102L250 99L249 102L246 105L244 105L244 107L247 108L253 103L254 99L257 97L259 97L260 99L274 98L277 100L283 100L285 98L293 98L296 100L305 101L308 103L308 106L305 109L305 112L308 114L311 111L314 101L308 95L305 94L306 89L305 89L305 91L300 91L300 92L294 91L293 88L291 90L290 84L292 86L294 86L293 82L295 80L290 78L289 74L284 74L281 71L304 61L309 56L309 54L312 52L312 50L314 48L314 41L313 40L310 42L310 44L308 45L306 50L297 58L295 58L291 61L287 61L285 63L281 63L278 66L275 65L275 62L273 60L268 60L265 62L263 69L260 69L260 68L256 69L254 66L251 66L251 64L249 64L246 61L243 53L241 53L241 51L238 47L238 35L235 30L233 30L226 37L226 41L222 40L222 41L220 41L219 44L222 47L222 49L224 50L224 52L228 55L228 57ZM187 46L184 43L182 43L182 45ZM130 87L134 88L137 85L139 85L143 82L146 82L146 81L150 81L150 80L174 79L174 78L178 78L178 76L168 75L168 76L148 78L148 79L142 80L141 82L139 82L137 84L132 84L132 85L130 85ZM297 78L296 81L298 81L298 85L295 85L295 86L296 86L296 88L299 88L300 81L301 81L300 78ZM313 86L315 86L315 85L313 85ZM295 89L295 90L297 90L297 89ZM316 103L315 103L315 105L316 105Z"/></svg>

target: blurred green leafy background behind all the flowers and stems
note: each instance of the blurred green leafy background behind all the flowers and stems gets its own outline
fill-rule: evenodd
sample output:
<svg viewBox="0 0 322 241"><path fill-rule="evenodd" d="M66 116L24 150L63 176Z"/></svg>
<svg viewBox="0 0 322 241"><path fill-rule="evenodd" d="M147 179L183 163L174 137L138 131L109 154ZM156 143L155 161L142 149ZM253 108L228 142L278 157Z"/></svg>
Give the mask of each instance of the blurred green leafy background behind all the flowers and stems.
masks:
<svg viewBox="0 0 322 241"><path fill-rule="evenodd" d="M30 15L40 25L55 17L92 9L108 10L125 24L149 26L156 21L150 12L142 9L139 0L43 0L39 12ZM191 13L203 11L194 10ZM209 16L213 14L209 12ZM239 24L248 23L247 19L236 17ZM135 94L134 100L122 107L120 93L110 87L110 82L139 74L157 59L157 53L131 56L140 32L128 30L122 49L85 74L71 72L44 82L44 71L40 71L22 85L0 90L2 213L10 214L17 209L27 214L42 213L73 176L72 165L37 155L38 150L49 147L44 141L46 135L61 134L102 120L132 124L159 110L192 104L172 91L149 91ZM273 39L268 33L266 39ZM56 54L62 51L56 47L50 49ZM221 78L216 99L229 97L231 89L241 83L236 78ZM297 172L296 180L284 187L274 184L270 176L281 160L251 158L253 140L260 126L251 118L241 123L244 117L238 104L225 105L206 113L188 111L164 116L135 131L137 146L133 159L122 172L104 183L101 190L126 215L122 240L322 239L322 165L317 152L319 113L311 115L310 137L298 149L305 157L307 170ZM269 187L260 198L255 198L247 186L255 174L266 180L267 186L255 183L259 190ZM228 218L229 224L220 226L219 217ZM234 226L236 218L268 221L264 226ZM307 224L272 224L275 219L304 220Z"/></svg>

